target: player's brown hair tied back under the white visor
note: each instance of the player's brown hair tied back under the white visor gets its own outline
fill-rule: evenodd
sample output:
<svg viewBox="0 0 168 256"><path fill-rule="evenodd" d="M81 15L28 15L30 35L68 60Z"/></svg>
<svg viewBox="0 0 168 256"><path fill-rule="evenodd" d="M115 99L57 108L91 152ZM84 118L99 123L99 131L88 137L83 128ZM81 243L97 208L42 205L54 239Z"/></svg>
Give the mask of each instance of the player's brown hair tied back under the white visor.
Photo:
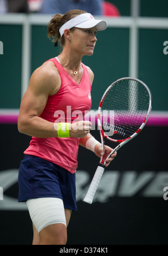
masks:
<svg viewBox="0 0 168 256"><path fill-rule="evenodd" d="M82 13L87 13L82 10L71 10L66 12L64 15L56 14L52 20L50 20L48 25L48 37L52 39L53 42L58 42L60 40L60 44L63 46L65 44L64 35L60 38L59 29L62 27L67 21L71 20ZM72 28L73 29L73 28ZM71 29L71 30L72 30Z"/></svg>

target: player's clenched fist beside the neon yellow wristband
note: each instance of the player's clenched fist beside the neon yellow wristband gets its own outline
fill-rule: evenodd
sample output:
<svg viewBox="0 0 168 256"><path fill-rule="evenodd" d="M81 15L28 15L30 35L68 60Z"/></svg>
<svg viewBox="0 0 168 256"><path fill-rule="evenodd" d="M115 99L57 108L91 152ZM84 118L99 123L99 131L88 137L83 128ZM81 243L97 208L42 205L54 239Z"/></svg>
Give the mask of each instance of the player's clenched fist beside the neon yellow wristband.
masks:
<svg viewBox="0 0 168 256"><path fill-rule="evenodd" d="M69 135L70 137L83 138L88 133L90 133L90 130L91 130L91 122L82 120L76 123L72 123L70 125Z"/></svg>

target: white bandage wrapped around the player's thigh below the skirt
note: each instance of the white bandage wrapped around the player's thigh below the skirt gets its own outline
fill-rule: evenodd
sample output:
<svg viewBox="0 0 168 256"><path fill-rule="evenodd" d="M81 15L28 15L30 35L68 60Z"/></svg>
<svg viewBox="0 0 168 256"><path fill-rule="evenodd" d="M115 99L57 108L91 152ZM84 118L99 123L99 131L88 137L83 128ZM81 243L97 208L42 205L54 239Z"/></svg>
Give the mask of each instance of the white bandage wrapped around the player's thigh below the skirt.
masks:
<svg viewBox="0 0 168 256"><path fill-rule="evenodd" d="M60 198L46 197L26 201L32 223L38 233L44 227L62 223L66 224L63 201Z"/></svg>

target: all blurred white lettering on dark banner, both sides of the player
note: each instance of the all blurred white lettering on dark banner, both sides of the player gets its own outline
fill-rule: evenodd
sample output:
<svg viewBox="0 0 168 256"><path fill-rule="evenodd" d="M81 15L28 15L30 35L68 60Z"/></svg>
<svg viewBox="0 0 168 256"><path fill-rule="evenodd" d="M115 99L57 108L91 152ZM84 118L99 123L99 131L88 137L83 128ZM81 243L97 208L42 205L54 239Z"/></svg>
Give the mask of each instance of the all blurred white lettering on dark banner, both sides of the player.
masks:
<svg viewBox="0 0 168 256"><path fill-rule="evenodd" d="M76 199L83 201L92 176L85 170L76 172ZM27 210L25 203L7 196L6 190L18 180L18 169L0 171L0 210ZM102 175L94 202L106 203L111 197L160 197L168 200L168 171L109 171Z"/></svg>

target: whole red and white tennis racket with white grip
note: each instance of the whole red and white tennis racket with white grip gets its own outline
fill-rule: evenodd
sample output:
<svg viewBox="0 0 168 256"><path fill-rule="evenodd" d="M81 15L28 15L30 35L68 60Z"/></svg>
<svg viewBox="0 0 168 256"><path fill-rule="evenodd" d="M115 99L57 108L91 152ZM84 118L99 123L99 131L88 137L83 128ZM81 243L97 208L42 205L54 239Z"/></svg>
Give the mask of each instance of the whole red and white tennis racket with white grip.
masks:
<svg viewBox="0 0 168 256"><path fill-rule="evenodd" d="M106 89L97 113L102 149L105 152L104 138L119 144L106 159L104 155L101 156L100 164L83 201L92 203L105 170L106 160L141 132L151 108L151 91L145 83L136 78L120 78Z"/></svg>

